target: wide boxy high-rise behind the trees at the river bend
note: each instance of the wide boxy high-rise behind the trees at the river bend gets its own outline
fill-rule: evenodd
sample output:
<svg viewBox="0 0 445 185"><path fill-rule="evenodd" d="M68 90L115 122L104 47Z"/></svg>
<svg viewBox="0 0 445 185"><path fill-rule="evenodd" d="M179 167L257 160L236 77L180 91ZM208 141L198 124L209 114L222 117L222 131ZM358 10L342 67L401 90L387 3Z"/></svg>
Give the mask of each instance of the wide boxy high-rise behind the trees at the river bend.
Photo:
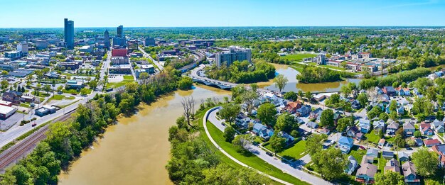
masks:
<svg viewBox="0 0 445 185"><path fill-rule="evenodd" d="M215 54L216 66L221 67L222 65L230 66L235 61L252 62L252 50L242 47L230 47L230 50L224 52L218 52Z"/></svg>

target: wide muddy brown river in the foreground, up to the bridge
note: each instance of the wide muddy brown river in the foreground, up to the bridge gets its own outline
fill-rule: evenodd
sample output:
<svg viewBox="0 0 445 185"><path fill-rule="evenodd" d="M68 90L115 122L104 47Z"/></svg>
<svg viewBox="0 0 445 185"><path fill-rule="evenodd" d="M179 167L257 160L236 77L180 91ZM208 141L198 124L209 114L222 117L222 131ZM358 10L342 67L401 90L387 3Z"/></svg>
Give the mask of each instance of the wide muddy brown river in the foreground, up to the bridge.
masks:
<svg viewBox="0 0 445 185"><path fill-rule="evenodd" d="M107 128L103 138L82 152L68 172L60 174L60 184L172 184L165 165L169 158L168 128L182 114L183 96L201 99L229 96L229 91L197 86L164 96L129 118L119 118Z"/></svg>

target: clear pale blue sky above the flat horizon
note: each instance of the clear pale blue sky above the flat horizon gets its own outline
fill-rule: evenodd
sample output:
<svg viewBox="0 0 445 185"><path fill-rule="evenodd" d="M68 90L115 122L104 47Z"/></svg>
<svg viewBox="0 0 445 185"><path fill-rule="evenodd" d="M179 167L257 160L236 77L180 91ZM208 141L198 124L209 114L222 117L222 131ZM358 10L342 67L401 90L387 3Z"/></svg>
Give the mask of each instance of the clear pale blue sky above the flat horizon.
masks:
<svg viewBox="0 0 445 185"><path fill-rule="evenodd" d="M445 26L445 0L0 0L0 28Z"/></svg>

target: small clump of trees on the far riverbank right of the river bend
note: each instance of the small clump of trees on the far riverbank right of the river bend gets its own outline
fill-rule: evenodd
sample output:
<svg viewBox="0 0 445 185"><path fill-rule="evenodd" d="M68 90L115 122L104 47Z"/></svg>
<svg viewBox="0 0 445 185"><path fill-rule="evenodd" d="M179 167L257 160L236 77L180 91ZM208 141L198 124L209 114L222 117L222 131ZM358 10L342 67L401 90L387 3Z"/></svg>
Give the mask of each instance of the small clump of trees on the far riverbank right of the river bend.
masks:
<svg viewBox="0 0 445 185"><path fill-rule="evenodd" d="M323 67L305 66L300 71L300 74L296 75L296 79L301 83L313 84L321 82L337 82L343 78L353 77L353 74L346 72L338 72L332 69Z"/></svg>

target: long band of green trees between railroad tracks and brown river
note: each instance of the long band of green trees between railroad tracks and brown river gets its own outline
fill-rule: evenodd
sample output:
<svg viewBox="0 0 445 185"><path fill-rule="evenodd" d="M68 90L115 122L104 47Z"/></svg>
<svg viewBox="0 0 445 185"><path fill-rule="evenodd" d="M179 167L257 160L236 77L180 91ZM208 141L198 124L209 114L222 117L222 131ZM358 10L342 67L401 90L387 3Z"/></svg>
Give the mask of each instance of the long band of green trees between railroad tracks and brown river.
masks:
<svg viewBox="0 0 445 185"><path fill-rule="evenodd" d="M181 79L180 72L167 69L139 84L128 83L114 95L97 94L80 105L70 119L51 124L47 138L30 155L6 169L0 184L57 184L60 170L68 169L107 125L115 124L119 114L130 116L139 103L154 102L156 97L176 90Z"/></svg>

